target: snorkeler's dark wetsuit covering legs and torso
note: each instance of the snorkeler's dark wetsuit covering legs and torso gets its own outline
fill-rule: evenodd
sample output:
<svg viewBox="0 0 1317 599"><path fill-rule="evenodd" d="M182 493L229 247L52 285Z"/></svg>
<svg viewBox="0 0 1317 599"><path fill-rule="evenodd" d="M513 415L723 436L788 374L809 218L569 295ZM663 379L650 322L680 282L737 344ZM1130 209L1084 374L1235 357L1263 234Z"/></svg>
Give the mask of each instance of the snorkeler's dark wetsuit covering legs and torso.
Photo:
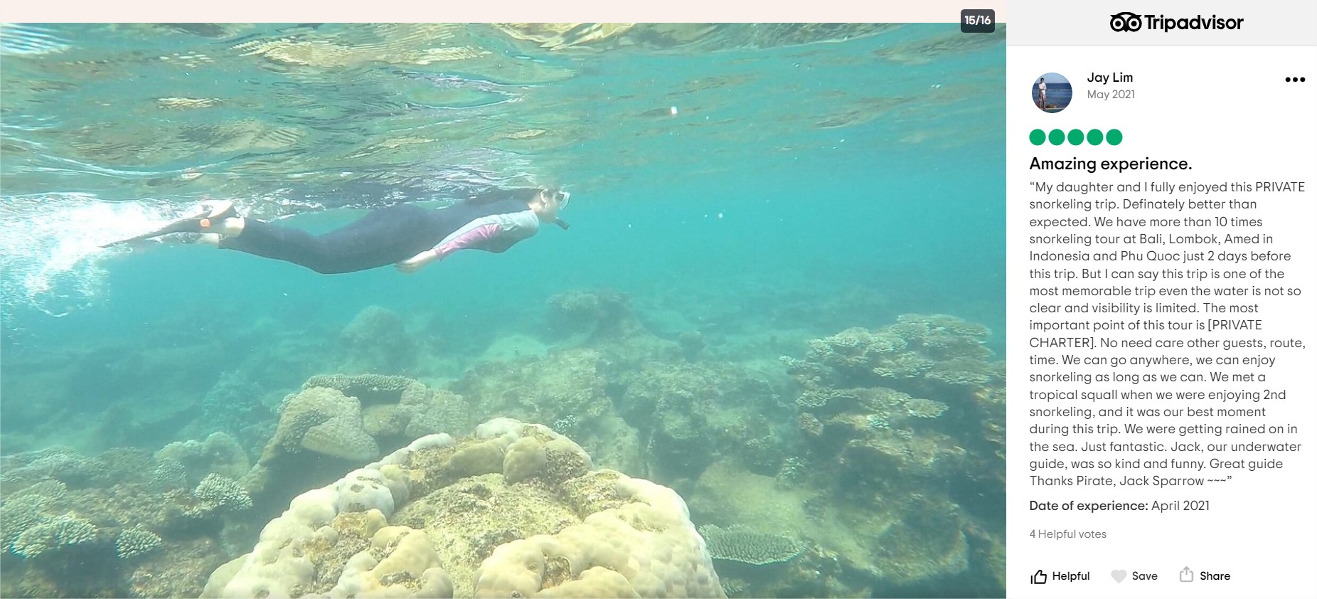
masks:
<svg viewBox="0 0 1317 599"><path fill-rule="evenodd" d="M249 219L242 234L221 240L220 247L292 262L316 273L354 273L411 258L477 219L527 209L519 199L466 200L437 209L396 204L319 236ZM491 240L481 249L503 251L516 241Z"/></svg>

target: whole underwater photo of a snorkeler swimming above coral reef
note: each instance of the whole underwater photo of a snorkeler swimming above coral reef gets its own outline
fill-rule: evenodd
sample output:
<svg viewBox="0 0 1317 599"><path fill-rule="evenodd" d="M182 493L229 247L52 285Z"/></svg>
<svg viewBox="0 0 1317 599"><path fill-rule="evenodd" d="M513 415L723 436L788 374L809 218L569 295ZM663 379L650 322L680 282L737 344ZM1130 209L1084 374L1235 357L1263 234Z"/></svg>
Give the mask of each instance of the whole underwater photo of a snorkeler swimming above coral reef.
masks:
<svg viewBox="0 0 1317 599"><path fill-rule="evenodd" d="M0 596L1005 594L1004 26L0 55Z"/></svg>

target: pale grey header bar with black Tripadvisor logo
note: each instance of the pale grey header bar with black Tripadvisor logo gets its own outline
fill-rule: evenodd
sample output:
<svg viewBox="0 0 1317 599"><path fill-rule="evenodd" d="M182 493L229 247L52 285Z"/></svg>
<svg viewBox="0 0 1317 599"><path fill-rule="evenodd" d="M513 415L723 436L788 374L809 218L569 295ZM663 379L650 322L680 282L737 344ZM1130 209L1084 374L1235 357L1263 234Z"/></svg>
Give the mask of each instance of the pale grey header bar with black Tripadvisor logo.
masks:
<svg viewBox="0 0 1317 599"><path fill-rule="evenodd" d="M1317 46L1317 1L1011 0L1009 46Z"/></svg>

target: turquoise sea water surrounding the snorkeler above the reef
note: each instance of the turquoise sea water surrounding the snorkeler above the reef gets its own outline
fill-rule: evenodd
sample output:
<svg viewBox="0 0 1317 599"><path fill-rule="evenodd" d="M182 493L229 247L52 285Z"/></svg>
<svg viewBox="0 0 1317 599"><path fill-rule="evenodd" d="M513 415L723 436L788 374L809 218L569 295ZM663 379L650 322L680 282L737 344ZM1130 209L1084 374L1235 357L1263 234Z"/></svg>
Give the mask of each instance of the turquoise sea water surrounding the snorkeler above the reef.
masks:
<svg viewBox="0 0 1317 599"><path fill-rule="evenodd" d="M1001 32L62 25L0 41L5 454L203 438L221 374L273 408L348 369L341 330L369 307L424 352L357 369L435 388L570 349L545 307L579 290L626 294L647 334L698 332L705 359L731 365L769 369L902 313L984 324L1001 359ZM325 230L373 205L520 184L569 190L572 229L415 275L97 249L203 197ZM253 361L271 352L291 357ZM782 388L785 430L798 391ZM628 474L687 498L698 477ZM976 567L950 590L901 588L1000 594ZM847 588L834 594L881 594Z"/></svg>

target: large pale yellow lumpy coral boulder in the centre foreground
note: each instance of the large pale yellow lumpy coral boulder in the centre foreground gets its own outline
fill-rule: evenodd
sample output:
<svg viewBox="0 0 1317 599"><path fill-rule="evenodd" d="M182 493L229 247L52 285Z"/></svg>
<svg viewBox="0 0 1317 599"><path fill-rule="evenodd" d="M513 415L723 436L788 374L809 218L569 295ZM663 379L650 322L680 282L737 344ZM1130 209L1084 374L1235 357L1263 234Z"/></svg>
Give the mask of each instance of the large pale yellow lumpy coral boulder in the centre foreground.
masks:
<svg viewBox="0 0 1317 599"><path fill-rule="evenodd" d="M676 492L510 419L299 495L202 596L383 594L724 596Z"/></svg>

